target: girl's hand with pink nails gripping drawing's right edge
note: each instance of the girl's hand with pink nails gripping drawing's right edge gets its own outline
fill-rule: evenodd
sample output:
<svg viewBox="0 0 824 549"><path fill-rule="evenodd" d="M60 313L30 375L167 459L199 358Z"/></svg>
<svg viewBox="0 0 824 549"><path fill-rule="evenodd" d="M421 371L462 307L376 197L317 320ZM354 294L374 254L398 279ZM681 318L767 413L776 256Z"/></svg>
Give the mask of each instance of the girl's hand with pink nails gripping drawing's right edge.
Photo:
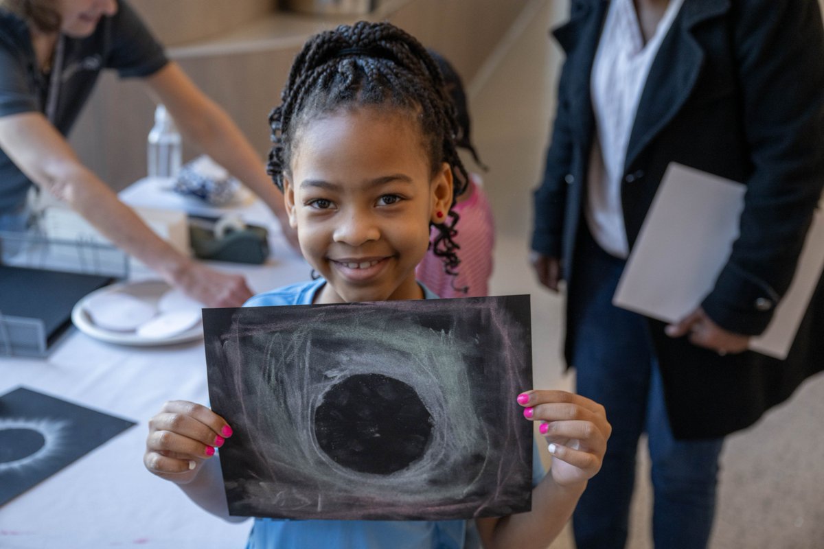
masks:
<svg viewBox="0 0 824 549"><path fill-rule="evenodd" d="M552 454L551 473L559 486L588 481L601 469L612 426L604 407L566 391L527 391L517 397L523 415L540 421Z"/></svg>

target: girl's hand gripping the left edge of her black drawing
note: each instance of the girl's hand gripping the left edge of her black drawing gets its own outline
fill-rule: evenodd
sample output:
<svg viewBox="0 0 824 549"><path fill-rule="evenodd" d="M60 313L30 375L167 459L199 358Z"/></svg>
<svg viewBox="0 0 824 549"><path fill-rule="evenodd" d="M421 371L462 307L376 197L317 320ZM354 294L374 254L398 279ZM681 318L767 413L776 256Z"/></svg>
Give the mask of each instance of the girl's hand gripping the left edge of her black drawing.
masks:
<svg viewBox="0 0 824 549"><path fill-rule="evenodd" d="M143 465L167 481L188 484L201 463L230 436L232 427L207 407L183 400L166 402L149 420Z"/></svg>

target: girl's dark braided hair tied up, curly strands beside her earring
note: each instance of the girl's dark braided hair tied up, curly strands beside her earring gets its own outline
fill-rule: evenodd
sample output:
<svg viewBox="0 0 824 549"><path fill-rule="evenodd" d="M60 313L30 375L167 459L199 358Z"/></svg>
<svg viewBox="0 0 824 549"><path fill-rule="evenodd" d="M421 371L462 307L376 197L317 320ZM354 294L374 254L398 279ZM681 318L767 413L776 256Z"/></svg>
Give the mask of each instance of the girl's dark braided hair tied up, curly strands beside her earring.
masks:
<svg viewBox="0 0 824 549"><path fill-rule="evenodd" d="M455 107L438 65L418 40L396 26L359 21L311 37L297 54L280 99L269 115L274 145L268 171L281 190L299 129L313 119L362 106L408 112L419 123L432 174L442 162L452 166L452 206L466 188L469 176L455 148ZM450 207L447 219L434 225L438 235L431 244L451 275L460 263L452 240L457 220Z"/></svg>

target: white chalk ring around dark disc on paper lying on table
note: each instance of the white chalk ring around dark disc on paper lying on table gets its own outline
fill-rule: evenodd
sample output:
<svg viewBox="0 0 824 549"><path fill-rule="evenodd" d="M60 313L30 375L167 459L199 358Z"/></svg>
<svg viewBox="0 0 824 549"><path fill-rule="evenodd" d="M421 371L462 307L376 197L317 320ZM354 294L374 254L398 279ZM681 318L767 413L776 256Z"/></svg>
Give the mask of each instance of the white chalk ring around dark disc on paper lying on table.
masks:
<svg viewBox="0 0 824 549"><path fill-rule="evenodd" d="M49 462L68 443L68 421L0 418L0 473Z"/></svg>

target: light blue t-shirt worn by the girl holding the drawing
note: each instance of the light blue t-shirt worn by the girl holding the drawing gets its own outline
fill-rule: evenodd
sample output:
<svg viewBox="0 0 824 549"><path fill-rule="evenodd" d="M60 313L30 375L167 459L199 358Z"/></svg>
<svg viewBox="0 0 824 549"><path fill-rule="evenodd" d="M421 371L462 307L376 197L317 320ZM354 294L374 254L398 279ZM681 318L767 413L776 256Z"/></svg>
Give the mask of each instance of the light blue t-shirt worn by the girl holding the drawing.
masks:
<svg viewBox="0 0 824 549"><path fill-rule="evenodd" d="M247 307L311 305L325 284L319 278L298 282L255 295ZM428 288L424 298L438 299ZM533 444L532 484L544 477L541 459ZM476 549L480 538L475 523L467 520L283 520L255 519L247 549Z"/></svg>

